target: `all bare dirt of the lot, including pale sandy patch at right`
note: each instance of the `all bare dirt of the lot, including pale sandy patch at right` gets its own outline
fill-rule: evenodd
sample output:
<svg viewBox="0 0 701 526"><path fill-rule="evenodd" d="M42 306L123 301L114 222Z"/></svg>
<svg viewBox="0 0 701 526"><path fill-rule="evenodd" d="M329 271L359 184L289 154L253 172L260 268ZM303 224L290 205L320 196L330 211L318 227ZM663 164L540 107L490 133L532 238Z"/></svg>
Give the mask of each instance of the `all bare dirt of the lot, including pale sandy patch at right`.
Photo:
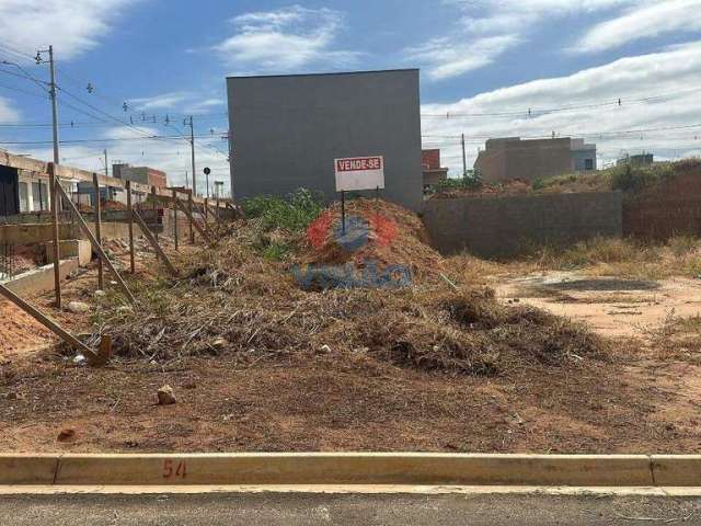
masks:
<svg viewBox="0 0 701 526"><path fill-rule="evenodd" d="M139 268L146 274L151 254ZM701 368L659 357L643 324L696 313L692 281L586 282L576 275L501 279L503 301L533 302L620 338L607 361L573 358L496 377L426 373L364 352L261 357L116 358L76 366L53 351L18 351L46 335L2 322L0 450L426 450L692 453L701 449ZM90 300L94 270L66 285ZM33 298L50 311L50 295ZM639 313L640 312L640 313ZM80 332L89 319L51 312ZM25 322L26 321L26 322ZM179 403L157 405L164 384ZM59 439L60 435L60 439Z"/></svg>

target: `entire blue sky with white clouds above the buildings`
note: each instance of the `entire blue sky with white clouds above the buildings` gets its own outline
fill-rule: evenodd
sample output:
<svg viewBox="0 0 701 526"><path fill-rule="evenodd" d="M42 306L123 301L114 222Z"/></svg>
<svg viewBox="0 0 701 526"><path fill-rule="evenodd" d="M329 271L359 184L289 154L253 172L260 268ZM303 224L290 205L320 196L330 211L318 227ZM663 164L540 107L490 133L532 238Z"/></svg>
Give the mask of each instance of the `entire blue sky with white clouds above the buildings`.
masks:
<svg viewBox="0 0 701 526"><path fill-rule="evenodd" d="M701 152L700 8L701 0L0 0L0 60L43 81L46 66L28 57L54 45L66 163L100 169L107 148L111 159L163 168L176 183L188 165L185 141L145 136L177 135L194 114L198 164L228 181L227 75L418 67L425 145L441 147L453 172L462 133L470 160L486 137L552 133L596 141L600 162L642 150L677 158ZM50 140L48 127L23 127L50 122L43 89L16 66L0 70L0 142ZM138 129L119 123L129 118ZM95 139L104 141L71 142ZM48 145L0 147L50 158Z"/></svg>

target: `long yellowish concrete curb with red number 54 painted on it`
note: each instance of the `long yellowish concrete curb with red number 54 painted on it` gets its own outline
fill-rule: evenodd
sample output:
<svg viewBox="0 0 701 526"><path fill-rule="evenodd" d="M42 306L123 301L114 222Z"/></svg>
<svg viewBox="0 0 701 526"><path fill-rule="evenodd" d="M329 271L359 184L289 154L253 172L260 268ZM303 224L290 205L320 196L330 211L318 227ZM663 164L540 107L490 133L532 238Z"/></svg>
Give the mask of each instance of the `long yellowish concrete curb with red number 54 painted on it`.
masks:
<svg viewBox="0 0 701 526"><path fill-rule="evenodd" d="M701 487L701 456L0 455L0 485Z"/></svg>

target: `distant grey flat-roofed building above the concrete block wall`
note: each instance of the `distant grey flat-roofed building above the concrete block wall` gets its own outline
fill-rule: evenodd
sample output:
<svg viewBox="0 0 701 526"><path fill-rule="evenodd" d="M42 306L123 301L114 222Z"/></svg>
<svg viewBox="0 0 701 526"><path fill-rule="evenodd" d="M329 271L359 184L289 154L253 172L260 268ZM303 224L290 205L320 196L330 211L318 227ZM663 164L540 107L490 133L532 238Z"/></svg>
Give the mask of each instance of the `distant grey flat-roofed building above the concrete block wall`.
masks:
<svg viewBox="0 0 701 526"><path fill-rule="evenodd" d="M485 182L535 181L563 173L596 170L596 145L571 137L490 139L478 155L475 170Z"/></svg>

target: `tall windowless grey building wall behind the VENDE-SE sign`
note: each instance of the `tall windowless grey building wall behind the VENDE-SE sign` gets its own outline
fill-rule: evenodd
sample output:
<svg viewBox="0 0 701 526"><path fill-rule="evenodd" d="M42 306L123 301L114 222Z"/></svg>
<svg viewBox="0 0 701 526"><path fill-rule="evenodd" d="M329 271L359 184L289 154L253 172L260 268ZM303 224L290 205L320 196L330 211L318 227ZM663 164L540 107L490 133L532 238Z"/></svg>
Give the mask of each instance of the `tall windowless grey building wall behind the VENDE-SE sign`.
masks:
<svg viewBox="0 0 701 526"><path fill-rule="evenodd" d="M388 201L423 204L418 70L227 79L235 198L337 198L334 159L384 157Z"/></svg>

